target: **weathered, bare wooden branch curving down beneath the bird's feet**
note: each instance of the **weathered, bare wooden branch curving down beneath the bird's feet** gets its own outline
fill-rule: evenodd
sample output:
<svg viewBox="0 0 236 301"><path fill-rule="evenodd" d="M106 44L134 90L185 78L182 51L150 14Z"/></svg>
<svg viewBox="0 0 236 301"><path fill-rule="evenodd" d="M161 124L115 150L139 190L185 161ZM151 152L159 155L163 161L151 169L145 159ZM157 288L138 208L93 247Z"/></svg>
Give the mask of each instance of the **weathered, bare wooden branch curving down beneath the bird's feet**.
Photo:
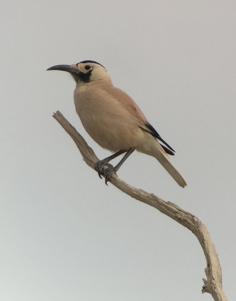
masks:
<svg viewBox="0 0 236 301"><path fill-rule="evenodd" d="M92 148L88 146L83 137L59 111L54 113L53 117L60 123L60 125L74 140L85 162L94 169L94 163L99 159L94 154ZM210 293L215 301L227 301L226 296L222 290L222 274L219 258L216 254L214 244L210 238L206 226L202 224L196 216L192 215L189 212L186 212L176 204L165 202L154 194L150 194L144 190L134 188L126 182L122 181L116 175L112 175L110 182L131 197L155 207L160 212L171 217L176 222L192 231L192 233L200 242L207 261L207 267L205 268L207 279L203 278L204 284L202 287L202 293Z"/></svg>

